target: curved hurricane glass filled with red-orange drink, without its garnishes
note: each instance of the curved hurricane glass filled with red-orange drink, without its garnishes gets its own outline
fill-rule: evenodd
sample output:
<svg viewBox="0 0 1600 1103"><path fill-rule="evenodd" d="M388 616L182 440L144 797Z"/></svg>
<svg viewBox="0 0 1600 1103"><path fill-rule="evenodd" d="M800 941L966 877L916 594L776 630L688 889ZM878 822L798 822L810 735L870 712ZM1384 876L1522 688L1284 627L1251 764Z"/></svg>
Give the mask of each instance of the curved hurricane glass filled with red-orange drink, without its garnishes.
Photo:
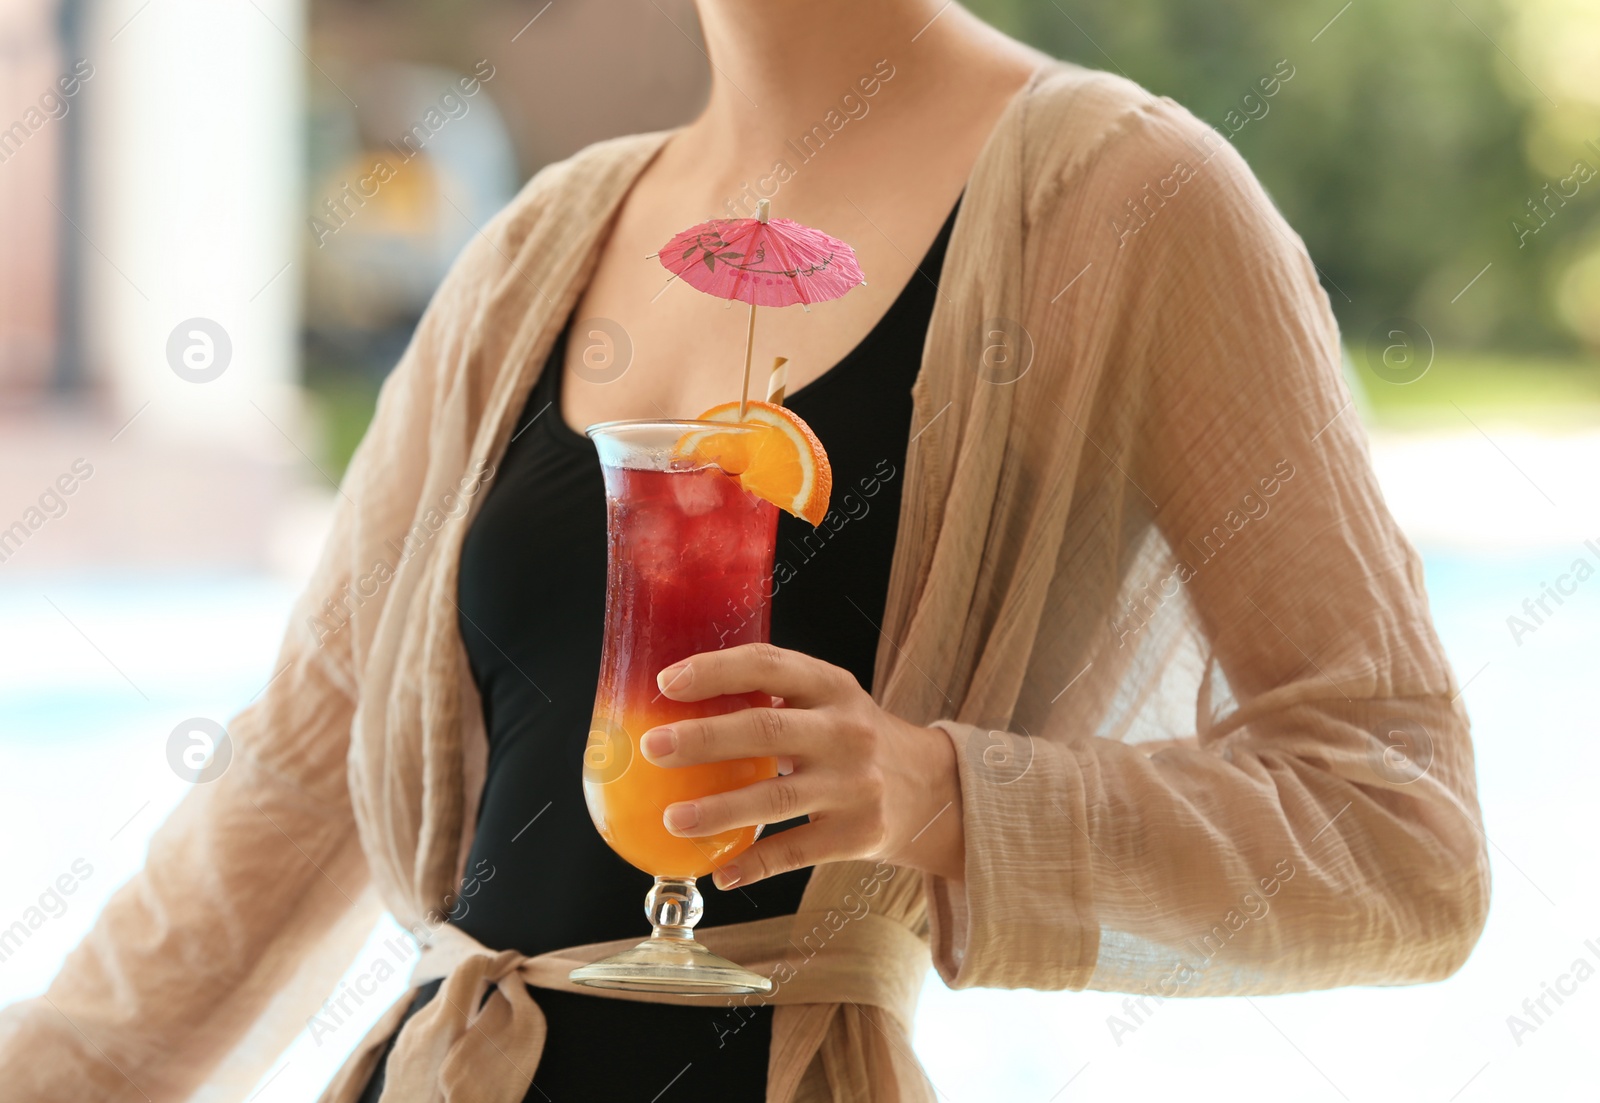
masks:
<svg viewBox="0 0 1600 1103"><path fill-rule="evenodd" d="M694 940L702 900L694 882L755 842L760 828L685 839L662 812L678 800L776 776L771 757L658 767L638 751L661 724L768 708L765 693L672 701L664 668L702 652L766 642L778 509L722 469L686 458L699 431L762 432L706 421L608 421L590 426L608 509L605 645L584 749L584 800L616 853L654 876L645 896L651 935L632 949L573 970L595 988L658 993L766 993L771 981Z"/></svg>

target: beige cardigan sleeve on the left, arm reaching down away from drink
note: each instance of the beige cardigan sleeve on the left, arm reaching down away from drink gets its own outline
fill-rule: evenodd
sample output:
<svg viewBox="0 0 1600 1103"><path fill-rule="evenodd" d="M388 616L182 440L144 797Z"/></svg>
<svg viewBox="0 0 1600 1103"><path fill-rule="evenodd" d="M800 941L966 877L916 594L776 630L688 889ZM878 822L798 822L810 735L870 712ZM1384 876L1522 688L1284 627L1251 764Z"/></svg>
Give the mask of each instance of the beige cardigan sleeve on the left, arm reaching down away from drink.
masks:
<svg viewBox="0 0 1600 1103"><path fill-rule="evenodd" d="M8 1100L187 1098L357 911L370 876L346 757L363 631L344 612L350 583L373 567L354 562L357 535L398 535L411 523L432 395L501 267L498 247L480 235L384 383L272 680L227 724L222 775L197 784L162 824L144 869L110 898L48 991L0 1013ZM368 599L366 610L378 608ZM312 989L298 1021L280 1018L302 1026L325 996Z"/></svg>

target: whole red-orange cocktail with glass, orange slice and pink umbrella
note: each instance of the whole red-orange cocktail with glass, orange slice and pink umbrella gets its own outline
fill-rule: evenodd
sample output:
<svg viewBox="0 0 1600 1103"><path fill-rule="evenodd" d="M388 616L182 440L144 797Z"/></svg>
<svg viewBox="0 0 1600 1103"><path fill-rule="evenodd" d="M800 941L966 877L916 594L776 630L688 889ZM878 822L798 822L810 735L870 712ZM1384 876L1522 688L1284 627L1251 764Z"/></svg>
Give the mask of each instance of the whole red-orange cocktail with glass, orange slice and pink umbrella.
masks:
<svg viewBox="0 0 1600 1103"><path fill-rule="evenodd" d="M837 299L862 282L845 242L790 219L712 219L675 234L656 253L690 287L750 304L744 384L694 421L606 421L590 426L610 507L605 647L589 743L584 799L611 848L656 884L645 898L653 933L571 978L600 988L672 993L766 993L771 981L694 941L694 887L749 848L760 828L683 837L664 824L667 805L742 789L778 773L773 759L658 767L640 754L651 728L742 708L763 693L693 704L662 693L669 666L706 652L766 640L778 509L822 523L832 471L822 443L782 399L784 357L768 402L750 402L755 307ZM658 296L659 298L659 296Z"/></svg>

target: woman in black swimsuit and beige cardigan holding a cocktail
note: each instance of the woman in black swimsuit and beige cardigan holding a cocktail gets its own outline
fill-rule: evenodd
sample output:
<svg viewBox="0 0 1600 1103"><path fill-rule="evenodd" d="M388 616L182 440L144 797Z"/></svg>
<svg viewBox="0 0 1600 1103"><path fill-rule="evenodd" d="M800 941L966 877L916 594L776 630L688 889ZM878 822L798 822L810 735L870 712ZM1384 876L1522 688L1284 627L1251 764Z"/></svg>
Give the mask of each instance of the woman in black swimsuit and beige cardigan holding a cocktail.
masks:
<svg viewBox="0 0 1600 1103"><path fill-rule="evenodd" d="M1464 961L1488 868L1459 687L1315 271L1226 138L934 0L699 11L704 114L542 171L440 288L283 674L8 1012L10 1098L248 1084L349 1013L330 973L374 898L429 949L328 1100L928 1100L930 954L957 988L1158 999ZM781 828L701 929L779 983L605 997L565 972L642 933L642 874L578 800L603 581L578 431L728 397L742 319L642 258L747 184L870 277L762 327L854 504L784 530L778 647L664 672L784 708L642 752L789 759L666 813ZM589 335L618 331L613 378Z"/></svg>

